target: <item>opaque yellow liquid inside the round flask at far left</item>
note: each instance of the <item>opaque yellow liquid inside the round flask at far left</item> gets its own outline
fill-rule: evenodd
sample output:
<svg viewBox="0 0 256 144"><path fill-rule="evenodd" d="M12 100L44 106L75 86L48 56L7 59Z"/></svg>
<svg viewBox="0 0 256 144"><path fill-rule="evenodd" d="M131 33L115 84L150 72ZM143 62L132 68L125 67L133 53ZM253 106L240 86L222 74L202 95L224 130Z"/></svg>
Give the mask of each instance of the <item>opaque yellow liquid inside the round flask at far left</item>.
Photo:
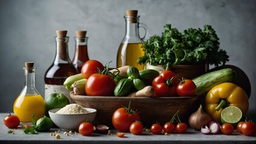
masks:
<svg viewBox="0 0 256 144"><path fill-rule="evenodd" d="M32 122L45 115L44 100L41 95L19 95L13 104L14 114L19 117L21 122Z"/></svg>

